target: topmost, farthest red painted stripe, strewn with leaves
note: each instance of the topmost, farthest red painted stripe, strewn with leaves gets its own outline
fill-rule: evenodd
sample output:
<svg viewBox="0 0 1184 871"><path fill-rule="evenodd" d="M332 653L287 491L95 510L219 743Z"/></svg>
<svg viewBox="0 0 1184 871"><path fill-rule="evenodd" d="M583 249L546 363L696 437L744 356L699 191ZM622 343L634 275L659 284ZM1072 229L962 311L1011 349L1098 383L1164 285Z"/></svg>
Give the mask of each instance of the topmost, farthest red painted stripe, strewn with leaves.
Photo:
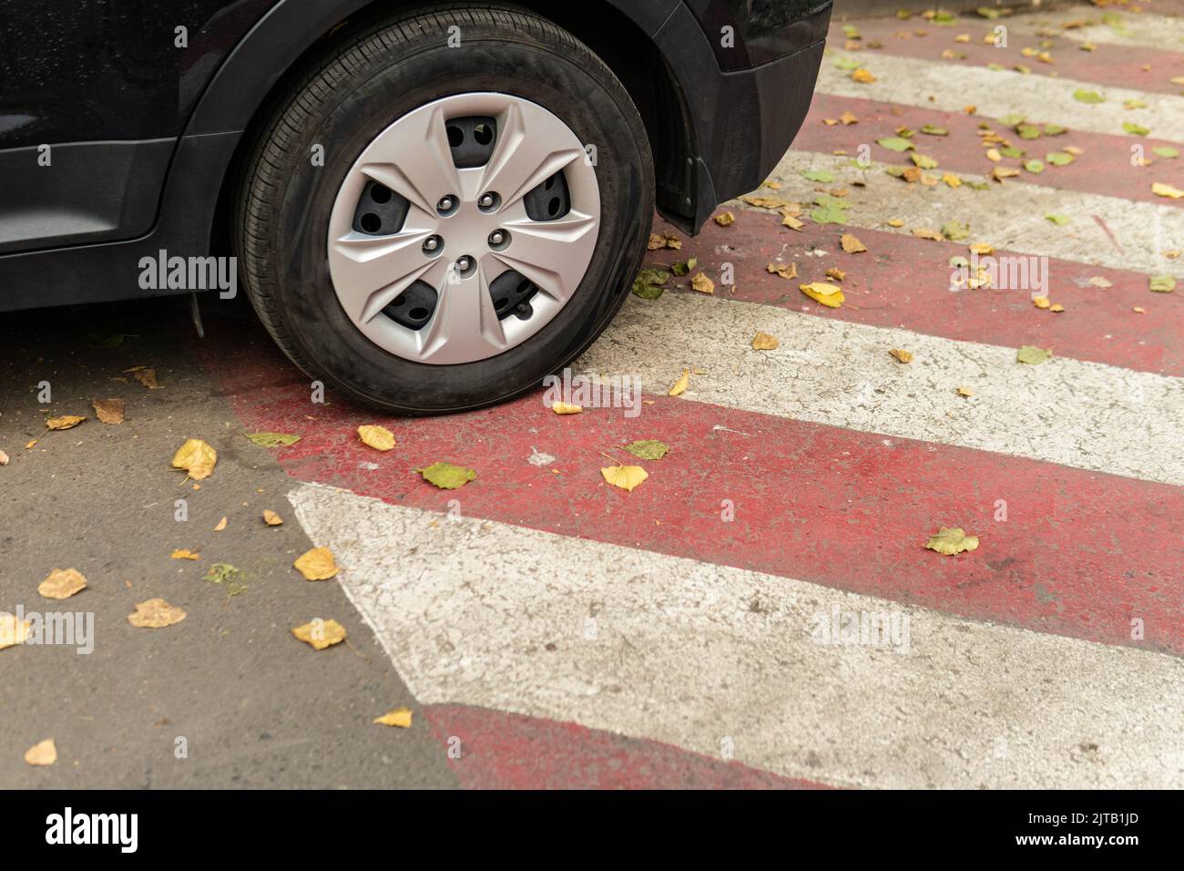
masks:
<svg viewBox="0 0 1184 871"><path fill-rule="evenodd" d="M1058 23L1068 21L1072 13L1066 13ZM1080 18L1080 17L1079 17ZM1096 18L1094 19L1096 20ZM1133 20L1133 19L1132 19ZM934 25L920 18L909 21L887 20L862 20L856 23L863 39L861 44L867 49L868 43L880 40L882 49L868 49L870 57L866 60L868 69L875 72L875 55L896 55L900 57L915 57L925 60L934 60L941 64L957 64L959 66L986 66L987 64L999 64L1009 71L1000 71L999 87L1008 87L1008 76L1018 75L1010 72L1016 64L1022 64L1031 70L1035 76L1049 76L1055 78L1070 78L1080 82L1090 82L1101 87L1134 88L1156 94L1179 94L1179 85L1173 85L1171 78L1184 76L1184 55L1173 51L1159 51L1156 49L1143 49L1135 46L1115 45L1113 43L1098 43L1094 51L1082 51L1079 40L1066 39L1063 37L1029 37L1010 30L1008 33L1008 46L996 47L986 45L983 37L992 33L996 25L1008 26L1010 20L1000 18L995 21L964 19L957 24L944 27ZM924 31L925 36L916 36L916 31ZM955 43L954 37L959 33L969 33L970 43ZM1049 49L1054 63L1045 64L1035 57L1024 57L1023 49L1040 47L1044 40L1053 43ZM838 20L831 23L830 34L826 44L834 49L834 56L843 52L847 37L843 34L843 24ZM957 53L965 53L965 58L944 59L941 52L946 49ZM831 56L823 63L834 63Z"/></svg>

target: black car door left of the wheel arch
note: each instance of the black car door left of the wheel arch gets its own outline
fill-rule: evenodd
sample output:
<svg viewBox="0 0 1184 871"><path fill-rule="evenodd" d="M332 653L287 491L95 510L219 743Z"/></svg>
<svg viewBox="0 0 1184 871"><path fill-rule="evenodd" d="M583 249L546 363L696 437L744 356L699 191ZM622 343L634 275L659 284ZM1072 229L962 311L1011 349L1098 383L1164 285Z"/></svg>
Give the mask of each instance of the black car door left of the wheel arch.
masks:
<svg viewBox="0 0 1184 871"><path fill-rule="evenodd" d="M274 0L0 0L0 256L135 238L185 119Z"/></svg>

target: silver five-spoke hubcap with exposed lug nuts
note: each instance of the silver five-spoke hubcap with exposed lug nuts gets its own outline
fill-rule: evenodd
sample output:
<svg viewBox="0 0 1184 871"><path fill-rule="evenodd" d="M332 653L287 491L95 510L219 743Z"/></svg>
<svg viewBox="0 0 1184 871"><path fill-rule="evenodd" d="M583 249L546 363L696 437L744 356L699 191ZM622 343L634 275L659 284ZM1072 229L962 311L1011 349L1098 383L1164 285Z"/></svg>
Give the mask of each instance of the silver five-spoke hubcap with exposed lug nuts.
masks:
<svg viewBox="0 0 1184 871"><path fill-rule="evenodd" d="M596 169L567 124L528 100L463 94L399 119L358 158L329 218L329 275L379 347L472 363L559 314L599 224Z"/></svg>

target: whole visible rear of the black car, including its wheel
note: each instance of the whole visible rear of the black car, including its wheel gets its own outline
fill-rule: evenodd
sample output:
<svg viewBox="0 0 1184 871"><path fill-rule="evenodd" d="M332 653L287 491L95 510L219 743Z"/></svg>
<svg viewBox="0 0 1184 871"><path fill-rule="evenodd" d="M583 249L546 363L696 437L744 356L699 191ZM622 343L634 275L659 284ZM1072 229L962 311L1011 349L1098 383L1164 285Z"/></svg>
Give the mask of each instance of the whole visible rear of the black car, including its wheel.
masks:
<svg viewBox="0 0 1184 871"><path fill-rule="evenodd" d="M239 282L388 411L528 390L802 124L830 0L0 0L0 312Z"/></svg>

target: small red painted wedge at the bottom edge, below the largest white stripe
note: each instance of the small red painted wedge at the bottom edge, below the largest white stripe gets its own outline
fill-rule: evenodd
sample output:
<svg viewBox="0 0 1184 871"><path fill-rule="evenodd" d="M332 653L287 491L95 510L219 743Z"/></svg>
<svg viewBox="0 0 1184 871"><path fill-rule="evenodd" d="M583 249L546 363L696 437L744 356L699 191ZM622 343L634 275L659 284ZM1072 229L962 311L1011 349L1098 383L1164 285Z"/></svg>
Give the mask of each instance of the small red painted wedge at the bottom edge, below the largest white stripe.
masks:
<svg viewBox="0 0 1184 871"><path fill-rule="evenodd" d="M826 789L671 744L466 705L423 716L468 789ZM459 744L455 741L459 738Z"/></svg>

